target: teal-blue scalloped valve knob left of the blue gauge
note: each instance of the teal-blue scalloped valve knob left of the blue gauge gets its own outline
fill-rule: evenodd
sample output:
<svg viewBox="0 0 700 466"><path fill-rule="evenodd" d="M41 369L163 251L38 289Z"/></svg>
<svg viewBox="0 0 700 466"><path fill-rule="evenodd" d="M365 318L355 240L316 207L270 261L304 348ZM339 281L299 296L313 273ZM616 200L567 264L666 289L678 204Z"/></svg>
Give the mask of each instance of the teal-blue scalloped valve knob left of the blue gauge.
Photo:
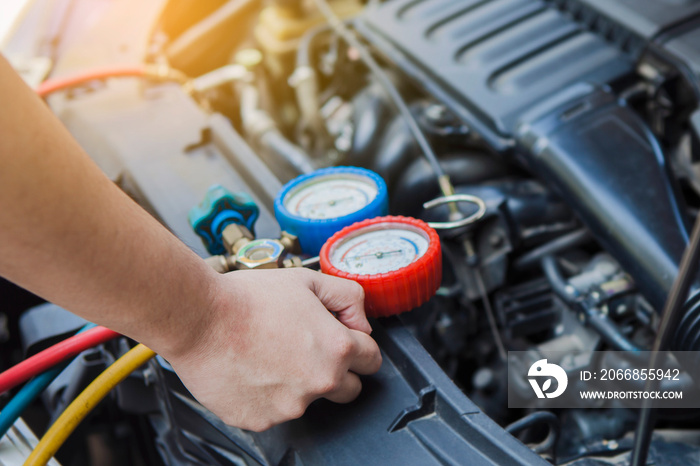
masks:
<svg viewBox="0 0 700 466"><path fill-rule="evenodd" d="M204 200L190 210L188 219L207 251L216 255L226 252L221 238L224 228L236 223L252 232L259 215L258 206L248 194L232 193L214 185L207 190Z"/></svg>

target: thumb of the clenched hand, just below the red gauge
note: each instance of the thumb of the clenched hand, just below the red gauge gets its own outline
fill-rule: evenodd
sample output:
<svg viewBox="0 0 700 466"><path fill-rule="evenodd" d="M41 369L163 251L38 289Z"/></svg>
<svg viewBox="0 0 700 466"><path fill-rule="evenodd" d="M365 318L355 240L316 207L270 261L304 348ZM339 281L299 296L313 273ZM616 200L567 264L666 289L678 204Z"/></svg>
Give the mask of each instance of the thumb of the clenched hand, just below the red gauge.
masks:
<svg viewBox="0 0 700 466"><path fill-rule="evenodd" d="M366 334L372 327L365 316L365 291L357 282L344 278L314 274L312 291L323 305L334 312L338 320L352 330Z"/></svg>

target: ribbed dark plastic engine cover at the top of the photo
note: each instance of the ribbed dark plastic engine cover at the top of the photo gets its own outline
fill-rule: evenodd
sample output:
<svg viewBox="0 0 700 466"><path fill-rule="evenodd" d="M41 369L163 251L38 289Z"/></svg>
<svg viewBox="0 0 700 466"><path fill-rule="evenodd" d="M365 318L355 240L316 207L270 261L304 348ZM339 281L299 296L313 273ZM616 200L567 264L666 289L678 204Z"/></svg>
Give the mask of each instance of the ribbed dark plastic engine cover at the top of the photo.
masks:
<svg viewBox="0 0 700 466"><path fill-rule="evenodd" d="M547 96L633 69L629 54L543 0L390 0L357 27L499 150Z"/></svg>

